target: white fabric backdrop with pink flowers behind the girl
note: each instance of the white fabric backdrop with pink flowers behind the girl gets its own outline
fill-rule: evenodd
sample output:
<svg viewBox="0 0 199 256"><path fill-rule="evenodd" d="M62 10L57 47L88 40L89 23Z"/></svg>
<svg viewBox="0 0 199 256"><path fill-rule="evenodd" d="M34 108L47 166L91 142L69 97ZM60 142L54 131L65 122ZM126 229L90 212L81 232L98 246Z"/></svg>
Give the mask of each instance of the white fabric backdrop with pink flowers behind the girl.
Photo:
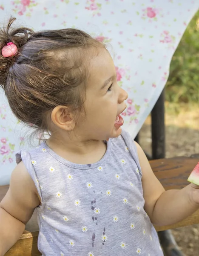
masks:
<svg viewBox="0 0 199 256"><path fill-rule="evenodd" d="M109 43L120 86L128 91L124 128L135 137L169 75L169 64L199 0L0 0L0 24L10 15L34 30L73 27ZM0 185L8 184L15 152L30 145L0 90Z"/></svg>

